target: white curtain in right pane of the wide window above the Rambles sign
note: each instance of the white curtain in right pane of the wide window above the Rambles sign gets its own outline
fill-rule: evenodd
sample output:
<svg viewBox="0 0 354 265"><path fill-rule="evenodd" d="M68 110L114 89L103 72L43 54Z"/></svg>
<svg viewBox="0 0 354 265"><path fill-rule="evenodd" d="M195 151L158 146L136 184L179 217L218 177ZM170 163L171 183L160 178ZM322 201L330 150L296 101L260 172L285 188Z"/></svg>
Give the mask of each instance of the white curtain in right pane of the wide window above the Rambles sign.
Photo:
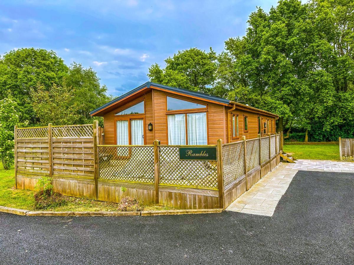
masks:
<svg viewBox="0 0 354 265"><path fill-rule="evenodd" d="M187 114L188 145L206 145L206 112Z"/></svg>

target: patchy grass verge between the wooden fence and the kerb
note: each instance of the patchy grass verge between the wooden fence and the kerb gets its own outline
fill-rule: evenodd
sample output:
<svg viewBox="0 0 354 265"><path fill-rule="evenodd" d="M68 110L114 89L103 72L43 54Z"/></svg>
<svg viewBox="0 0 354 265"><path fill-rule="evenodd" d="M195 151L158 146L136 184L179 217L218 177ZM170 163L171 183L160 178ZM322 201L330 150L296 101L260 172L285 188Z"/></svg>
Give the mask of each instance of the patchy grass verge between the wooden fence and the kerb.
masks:
<svg viewBox="0 0 354 265"><path fill-rule="evenodd" d="M4 170L0 163L0 205L34 210L34 191L15 189L14 170ZM46 211L117 211L118 204L65 196L67 204ZM145 206L144 211L173 210L165 206Z"/></svg>

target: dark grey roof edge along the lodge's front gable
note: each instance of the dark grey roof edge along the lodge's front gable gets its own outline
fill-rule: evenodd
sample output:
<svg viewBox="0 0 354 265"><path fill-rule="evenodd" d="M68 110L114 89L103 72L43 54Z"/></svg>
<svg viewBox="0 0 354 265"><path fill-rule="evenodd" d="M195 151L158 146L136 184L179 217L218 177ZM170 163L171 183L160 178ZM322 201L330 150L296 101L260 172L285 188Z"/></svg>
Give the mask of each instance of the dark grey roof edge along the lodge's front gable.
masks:
<svg viewBox="0 0 354 265"><path fill-rule="evenodd" d="M183 93L185 95L189 95L189 96L196 96L198 98L201 99L207 99L207 100L212 100L212 101L216 101L216 102L220 102L223 104L229 104L230 100L228 99L224 99L224 98L220 98L218 96L213 96L213 95L209 95L209 94L205 94L205 93L201 93L201 92L196 92L196 91L192 91L192 90L188 90L188 89L183 89L183 88L177 88L177 87L169 87L169 86L165 86L165 85L161 85L161 84L157 84L157 83L152 83L152 82L146 82L144 84L142 84L141 86L138 86L137 88L134 88L133 90L130 90L129 92L125 93L124 95L121 95L120 97L108 102L107 104L104 104L103 106L96 108L96 110L93 110L90 112L90 115L92 115L93 113L96 113L97 111L100 111L102 109L104 109L105 107L108 107L109 105L114 104L117 101L120 101L124 98L127 98L128 96L134 94L135 92L147 87L149 88L150 86L154 86L154 87L158 87L158 88L163 88L163 89L167 89L170 90L172 92L177 92L177 93Z"/></svg>

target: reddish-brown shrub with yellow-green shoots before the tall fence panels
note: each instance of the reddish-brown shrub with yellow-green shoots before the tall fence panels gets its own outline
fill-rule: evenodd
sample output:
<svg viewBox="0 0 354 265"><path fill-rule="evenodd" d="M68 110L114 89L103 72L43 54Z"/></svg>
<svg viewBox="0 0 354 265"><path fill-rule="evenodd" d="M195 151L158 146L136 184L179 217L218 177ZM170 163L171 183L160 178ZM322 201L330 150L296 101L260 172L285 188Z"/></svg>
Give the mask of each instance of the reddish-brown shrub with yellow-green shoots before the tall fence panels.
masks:
<svg viewBox="0 0 354 265"><path fill-rule="evenodd" d="M66 203L62 194L53 191L52 179L49 177L38 179L35 190L34 207L36 209L44 210L62 206Z"/></svg>

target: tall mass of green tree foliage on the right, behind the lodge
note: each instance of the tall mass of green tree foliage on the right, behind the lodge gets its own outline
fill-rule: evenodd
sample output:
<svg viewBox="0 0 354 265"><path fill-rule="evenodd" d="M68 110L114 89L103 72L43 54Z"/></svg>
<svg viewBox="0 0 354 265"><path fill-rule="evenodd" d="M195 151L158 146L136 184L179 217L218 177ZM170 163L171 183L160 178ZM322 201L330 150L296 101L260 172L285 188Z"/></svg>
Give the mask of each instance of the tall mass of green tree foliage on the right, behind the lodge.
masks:
<svg viewBox="0 0 354 265"><path fill-rule="evenodd" d="M215 91L279 114L279 130L353 124L353 15L345 0L258 8L246 35L225 42Z"/></svg>

